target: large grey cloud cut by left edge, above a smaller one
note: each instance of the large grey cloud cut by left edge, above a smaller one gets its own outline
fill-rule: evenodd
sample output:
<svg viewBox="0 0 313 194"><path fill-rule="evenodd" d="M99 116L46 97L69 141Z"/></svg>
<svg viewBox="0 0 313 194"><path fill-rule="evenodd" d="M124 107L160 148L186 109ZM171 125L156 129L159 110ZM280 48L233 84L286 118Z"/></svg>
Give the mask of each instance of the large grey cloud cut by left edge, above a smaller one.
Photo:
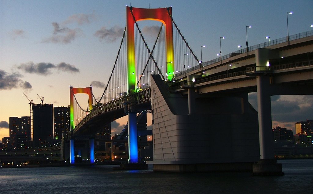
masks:
<svg viewBox="0 0 313 194"><path fill-rule="evenodd" d="M27 81L20 79L23 77L19 73L8 74L0 69L0 90L7 90L13 88L31 89L32 85Z"/></svg>

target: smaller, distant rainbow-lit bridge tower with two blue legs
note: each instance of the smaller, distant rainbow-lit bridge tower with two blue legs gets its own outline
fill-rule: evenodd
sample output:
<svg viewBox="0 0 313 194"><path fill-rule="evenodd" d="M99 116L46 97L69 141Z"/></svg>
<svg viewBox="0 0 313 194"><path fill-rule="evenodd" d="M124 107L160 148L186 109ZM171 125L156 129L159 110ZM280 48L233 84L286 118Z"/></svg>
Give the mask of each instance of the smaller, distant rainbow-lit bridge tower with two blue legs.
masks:
<svg viewBox="0 0 313 194"><path fill-rule="evenodd" d="M69 126L70 126L70 132L75 128L75 124L74 124L74 95L75 94L79 94L79 93L83 93L83 94L87 94L89 96L89 110L92 109L92 87L90 85L90 87L88 88L73 88L72 86L70 86L69 88ZM95 162L95 151L94 151L94 140L90 139L89 140L89 144L90 144L90 163L94 163ZM75 149L74 149L74 139L73 137L70 138L70 163L74 164L75 163Z"/></svg>

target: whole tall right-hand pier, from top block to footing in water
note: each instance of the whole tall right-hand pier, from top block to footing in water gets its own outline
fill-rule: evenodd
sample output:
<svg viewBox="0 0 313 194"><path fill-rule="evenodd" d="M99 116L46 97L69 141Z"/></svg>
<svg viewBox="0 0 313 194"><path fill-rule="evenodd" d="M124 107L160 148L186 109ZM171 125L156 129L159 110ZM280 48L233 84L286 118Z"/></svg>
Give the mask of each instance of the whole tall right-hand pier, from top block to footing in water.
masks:
<svg viewBox="0 0 313 194"><path fill-rule="evenodd" d="M269 49L258 49L255 57L256 66L265 68L265 71L262 70L256 73L260 160L252 166L252 174L255 176L284 175L282 166L277 163L273 151L271 113L271 94L273 93L273 87L270 85L270 72L266 71L269 55Z"/></svg>

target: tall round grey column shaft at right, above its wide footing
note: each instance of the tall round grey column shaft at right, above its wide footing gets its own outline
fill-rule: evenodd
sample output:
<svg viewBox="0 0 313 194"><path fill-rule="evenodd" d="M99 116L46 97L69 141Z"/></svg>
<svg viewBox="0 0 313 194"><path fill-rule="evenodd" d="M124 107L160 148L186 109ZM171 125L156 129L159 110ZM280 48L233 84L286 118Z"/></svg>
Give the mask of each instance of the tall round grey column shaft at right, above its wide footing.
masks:
<svg viewBox="0 0 313 194"><path fill-rule="evenodd" d="M259 75L257 81L260 159L273 159L272 112L269 76Z"/></svg>

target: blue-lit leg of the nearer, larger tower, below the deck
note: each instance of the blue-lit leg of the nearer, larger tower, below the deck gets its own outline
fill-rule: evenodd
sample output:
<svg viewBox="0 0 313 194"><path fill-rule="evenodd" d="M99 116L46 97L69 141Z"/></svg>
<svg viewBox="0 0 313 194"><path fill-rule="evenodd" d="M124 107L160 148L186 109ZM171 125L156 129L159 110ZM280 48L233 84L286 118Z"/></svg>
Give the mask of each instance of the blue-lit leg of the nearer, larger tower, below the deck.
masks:
<svg viewBox="0 0 313 194"><path fill-rule="evenodd" d="M128 163L138 163L136 112L128 113Z"/></svg>

